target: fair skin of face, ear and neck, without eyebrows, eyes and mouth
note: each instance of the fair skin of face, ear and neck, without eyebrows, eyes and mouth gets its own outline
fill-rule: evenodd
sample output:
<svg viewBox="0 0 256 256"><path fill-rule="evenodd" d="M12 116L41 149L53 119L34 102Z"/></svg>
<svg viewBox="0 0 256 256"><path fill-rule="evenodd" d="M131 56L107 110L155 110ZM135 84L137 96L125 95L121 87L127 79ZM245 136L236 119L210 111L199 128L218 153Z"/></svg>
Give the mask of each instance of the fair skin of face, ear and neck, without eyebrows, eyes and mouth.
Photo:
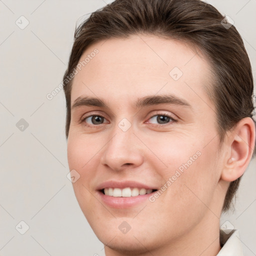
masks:
<svg viewBox="0 0 256 256"><path fill-rule="evenodd" d="M108 108L72 109L67 157L69 169L80 174L73 183L75 196L106 256L216 255L229 181L242 175L251 157L252 120L242 119L220 147L214 103L205 91L212 84L211 67L189 45L153 35L110 38L90 45L80 60L95 48L99 53L73 79L71 104L91 96ZM176 81L169 75L173 67L183 72ZM137 98L165 93L185 99L191 108L133 107ZM161 124L152 118L157 113L177 121ZM93 124L90 117L85 126L81 119L91 114L104 121ZM125 132L118 127L122 118L131 124ZM104 205L96 192L110 179L160 188L196 151L201 155L154 202L116 209ZM122 221L131 226L125 234L118 228Z"/></svg>

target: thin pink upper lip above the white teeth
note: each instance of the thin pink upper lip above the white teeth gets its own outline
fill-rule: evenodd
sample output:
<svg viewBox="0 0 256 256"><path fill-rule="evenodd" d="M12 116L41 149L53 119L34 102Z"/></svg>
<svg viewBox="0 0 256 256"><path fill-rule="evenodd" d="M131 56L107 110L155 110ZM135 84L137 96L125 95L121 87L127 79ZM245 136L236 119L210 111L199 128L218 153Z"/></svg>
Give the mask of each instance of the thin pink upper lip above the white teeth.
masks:
<svg viewBox="0 0 256 256"><path fill-rule="evenodd" d="M150 185L146 185L146 184L143 184L143 183L140 183L140 182L137 182L137 181L133 181L133 180L123 180L123 181L108 180L108 181L104 181L96 187L96 190L101 190L103 188L108 188L108 187L112 187L112 188L137 187L137 188L158 190L158 188L153 186L153 185L150 186Z"/></svg>

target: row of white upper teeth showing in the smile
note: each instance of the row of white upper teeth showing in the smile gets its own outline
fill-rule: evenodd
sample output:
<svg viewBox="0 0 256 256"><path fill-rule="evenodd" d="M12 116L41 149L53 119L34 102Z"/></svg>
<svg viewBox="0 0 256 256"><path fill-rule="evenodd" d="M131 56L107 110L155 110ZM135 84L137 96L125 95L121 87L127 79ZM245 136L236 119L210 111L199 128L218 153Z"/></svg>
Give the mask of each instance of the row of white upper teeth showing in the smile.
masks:
<svg viewBox="0 0 256 256"><path fill-rule="evenodd" d="M143 195L143 194L149 194L153 190L152 189L145 189L145 188L137 188L137 187L125 187L125 188L104 188L104 194L110 195L114 197L122 196L122 197L130 197L130 196L136 196L136 195Z"/></svg>

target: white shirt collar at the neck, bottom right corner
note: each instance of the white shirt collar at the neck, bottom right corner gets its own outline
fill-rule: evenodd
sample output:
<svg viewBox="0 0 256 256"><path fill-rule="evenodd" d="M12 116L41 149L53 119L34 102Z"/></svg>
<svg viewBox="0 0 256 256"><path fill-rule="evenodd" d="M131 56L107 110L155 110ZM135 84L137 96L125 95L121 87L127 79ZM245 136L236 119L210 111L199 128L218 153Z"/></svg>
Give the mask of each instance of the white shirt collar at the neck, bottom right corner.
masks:
<svg viewBox="0 0 256 256"><path fill-rule="evenodd" d="M239 231L234 229L220 229L220 244L224 244L216 256L243 256L242 242Z"/></svg>

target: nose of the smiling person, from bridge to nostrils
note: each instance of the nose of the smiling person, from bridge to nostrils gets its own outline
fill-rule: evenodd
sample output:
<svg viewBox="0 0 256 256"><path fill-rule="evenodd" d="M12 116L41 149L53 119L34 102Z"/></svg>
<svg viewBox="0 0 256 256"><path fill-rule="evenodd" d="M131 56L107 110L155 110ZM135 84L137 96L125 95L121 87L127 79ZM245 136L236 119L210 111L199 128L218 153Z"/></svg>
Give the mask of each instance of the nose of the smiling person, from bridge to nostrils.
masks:
<svg viewBox="0 0 256 256"><path fill-rule="evenodd" d="M117 126L104 146L100 163L115 171L139 166L143 162L143 156L138 142L131 127L122 131Z"/></svg>

